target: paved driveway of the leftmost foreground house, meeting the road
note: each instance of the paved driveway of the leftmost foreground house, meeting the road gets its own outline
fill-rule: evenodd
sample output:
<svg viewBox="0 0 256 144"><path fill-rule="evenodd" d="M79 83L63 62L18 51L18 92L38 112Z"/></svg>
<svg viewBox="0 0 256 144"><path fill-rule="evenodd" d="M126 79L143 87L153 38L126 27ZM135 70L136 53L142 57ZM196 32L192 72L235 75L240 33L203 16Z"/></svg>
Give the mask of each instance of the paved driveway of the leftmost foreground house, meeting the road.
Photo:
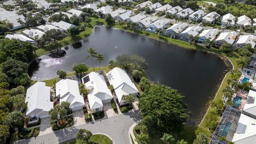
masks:
<svg viewBox="0 0 256 144"><path fill-rule="evenodd" d="M52 133L52 126L51 126L51 118L50 117L46 117L46 118L42 118L41 119L41 124L40 124L40 132L38 134L39 135L44 135L47 133Z"/></svg>

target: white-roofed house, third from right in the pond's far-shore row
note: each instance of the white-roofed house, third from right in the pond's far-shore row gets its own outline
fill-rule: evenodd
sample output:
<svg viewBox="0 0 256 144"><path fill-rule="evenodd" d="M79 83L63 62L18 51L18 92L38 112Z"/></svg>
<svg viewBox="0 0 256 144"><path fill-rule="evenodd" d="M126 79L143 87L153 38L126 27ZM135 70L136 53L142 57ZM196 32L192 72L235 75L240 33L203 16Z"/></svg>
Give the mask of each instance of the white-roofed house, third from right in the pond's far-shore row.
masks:
<svg viewBox="0 0 256 144"><path fill-rule="evenodd" d="M205 29L202 31L201 34L199 34L198 42L204 43L205 39L209 39L210 41L213 41L213 39L218 34L219 29Z"/></svg>

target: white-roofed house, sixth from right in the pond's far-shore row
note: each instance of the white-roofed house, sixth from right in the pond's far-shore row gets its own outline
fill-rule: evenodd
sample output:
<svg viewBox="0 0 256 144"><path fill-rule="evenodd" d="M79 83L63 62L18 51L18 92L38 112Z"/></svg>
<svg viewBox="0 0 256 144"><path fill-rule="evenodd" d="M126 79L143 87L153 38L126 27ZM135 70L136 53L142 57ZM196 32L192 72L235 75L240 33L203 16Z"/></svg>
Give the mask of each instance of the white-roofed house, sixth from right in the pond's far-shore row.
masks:
<svg viewBox="0 0 256 144"><path fill-rule="evenodd" d="M164 29L171 23L170 19L160 19L147 26L147 31L156 33L157 29Z"/></svg>

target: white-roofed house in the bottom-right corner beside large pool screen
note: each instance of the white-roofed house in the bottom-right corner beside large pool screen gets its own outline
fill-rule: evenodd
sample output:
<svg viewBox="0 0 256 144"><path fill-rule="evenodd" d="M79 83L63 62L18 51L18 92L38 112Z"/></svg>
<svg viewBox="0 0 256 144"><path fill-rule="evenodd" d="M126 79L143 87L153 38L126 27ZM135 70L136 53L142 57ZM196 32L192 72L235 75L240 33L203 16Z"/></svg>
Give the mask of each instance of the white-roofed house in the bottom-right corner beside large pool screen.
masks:
<svg viewBox="0 0 256 144"><path fill-rule="evenodd" d="M256 119L241 114L232 142L236 144L255 143Z"/></svg>

